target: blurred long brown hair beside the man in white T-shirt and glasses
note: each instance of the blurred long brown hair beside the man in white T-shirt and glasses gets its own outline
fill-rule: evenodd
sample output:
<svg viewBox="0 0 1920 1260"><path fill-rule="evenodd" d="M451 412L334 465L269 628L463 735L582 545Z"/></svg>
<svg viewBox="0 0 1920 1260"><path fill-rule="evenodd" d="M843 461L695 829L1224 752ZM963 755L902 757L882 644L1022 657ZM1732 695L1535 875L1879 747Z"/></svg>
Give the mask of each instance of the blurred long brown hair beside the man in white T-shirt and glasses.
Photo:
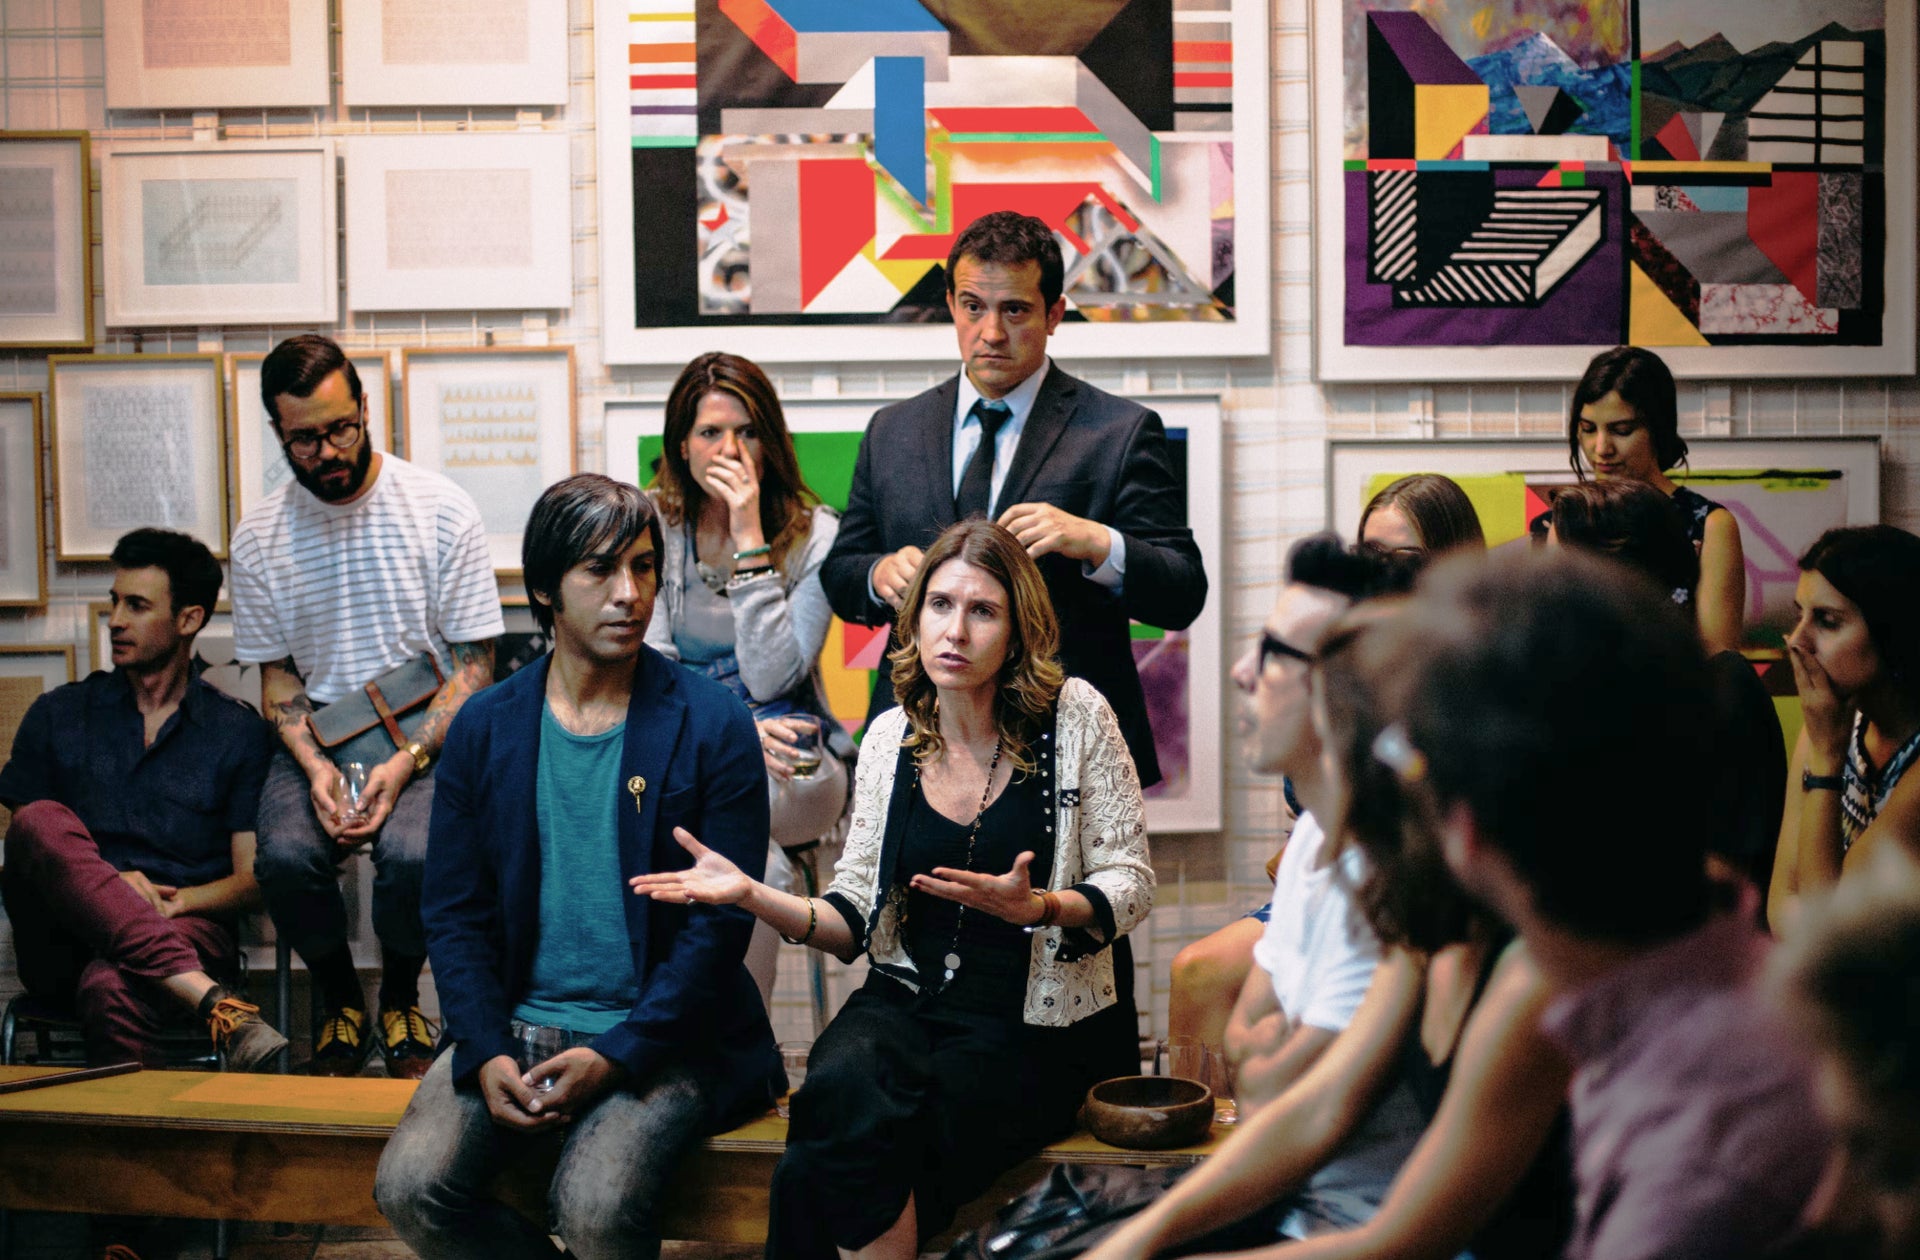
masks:
<svg viewBox="0 0 1920 1260"><path fill-rule="evenodd" d="M1367 859L1354 903L1382 943L1434 953L1494 920L1453 880L1427 812L1375 753L1390 705L1407 690L1407 670L1382 632L1404 605L1373 599L1334 620L1313 688L1327 715L1325 749L1346 788L1346 811L1329 820L1329 832L1357 843Z"/></svg>

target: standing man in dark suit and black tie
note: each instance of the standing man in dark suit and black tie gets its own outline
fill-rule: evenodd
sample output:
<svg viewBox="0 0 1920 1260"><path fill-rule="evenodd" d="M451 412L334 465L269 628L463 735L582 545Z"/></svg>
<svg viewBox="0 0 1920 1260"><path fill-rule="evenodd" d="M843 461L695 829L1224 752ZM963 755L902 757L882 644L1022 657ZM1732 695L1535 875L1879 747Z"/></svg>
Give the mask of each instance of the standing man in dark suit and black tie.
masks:
<svg viewBox="0 0 1920 1260"><path fill-rule="evenodd" d="M998 521L1041 565L1060 663L1106 695L1140 782L1158 784L1127 622L1187 628L1206 603L1206 570L1160 417L1048 361L1062 284L1060 242L1043 221L996 211L960 232L947 307L966 371L868 424L820 582L843 618L889 624L943 528ZM893 703L881 666L868 718Z"/></svg>

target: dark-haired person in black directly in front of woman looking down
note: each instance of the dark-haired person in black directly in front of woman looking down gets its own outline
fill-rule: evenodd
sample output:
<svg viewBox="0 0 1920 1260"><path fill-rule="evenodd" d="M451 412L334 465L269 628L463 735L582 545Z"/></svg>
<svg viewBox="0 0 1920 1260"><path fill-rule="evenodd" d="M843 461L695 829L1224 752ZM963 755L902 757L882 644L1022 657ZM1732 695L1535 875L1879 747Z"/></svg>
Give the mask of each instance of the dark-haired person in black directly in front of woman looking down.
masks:
<svg viewBox="0 0 1920 1260"><path fill-rule="evenodd" d="M1653 486L1630 480L1567 486L1553 496L1548 540L1611 555L1638 569L1663 592L1670 592L1680 609L1692 613L1699 557L1688 542L1680 509ZM1716 864L1716 870L1730 868L1757 891L1764 891L1772 882L1780 795L1788 782L1780 715L1753 666L1738 651L1713 651L1707 665L1713 670L1720 738L1713 741L1713 772L1699 778L1724 803L1709 847L1726 864Z"/></svg>

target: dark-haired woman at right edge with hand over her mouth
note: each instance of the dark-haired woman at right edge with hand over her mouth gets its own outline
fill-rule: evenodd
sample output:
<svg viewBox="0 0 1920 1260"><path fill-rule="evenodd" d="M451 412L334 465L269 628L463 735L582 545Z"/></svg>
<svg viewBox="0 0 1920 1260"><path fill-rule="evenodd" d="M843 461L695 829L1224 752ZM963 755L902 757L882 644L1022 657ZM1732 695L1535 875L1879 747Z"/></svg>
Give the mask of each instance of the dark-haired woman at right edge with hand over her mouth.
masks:
<svg viewBox="0 0 1920 1260"><path fill-rule="evenodd" d="M1803 726L1768 912L1895 839L1920 851L1920 538L1828 530L1799 561L1788 636Z"/></svg>

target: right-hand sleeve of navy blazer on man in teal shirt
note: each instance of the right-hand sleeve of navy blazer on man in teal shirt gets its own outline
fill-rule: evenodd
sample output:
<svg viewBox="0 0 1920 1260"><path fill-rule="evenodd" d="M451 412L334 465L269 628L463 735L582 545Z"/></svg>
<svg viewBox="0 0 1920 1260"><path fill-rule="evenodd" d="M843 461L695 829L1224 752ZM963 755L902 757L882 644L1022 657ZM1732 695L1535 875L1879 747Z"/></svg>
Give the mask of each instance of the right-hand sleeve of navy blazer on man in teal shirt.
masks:
<svg viewBox="0 0 1920 1260"><path fill-rule="evenodd" d="M722 716L724 715L724 716ZM699 841L758 880L766 874L768 801L760 739L747 705L693 711L684 739L699 757ZM693 828L687 828L693 830ZM672 837L664 816L653 839L653 868L691 866L693 859ZM747 958L753 914L739 907L668 907L651 914L682 914L666 957L651 964L639 983L639 1001L626 1020L595 1037L593 1049L618 1062L630 1081L645 1079L689 1043L708 1041L720 1026L720 1003L730 978Z"/></svg>

